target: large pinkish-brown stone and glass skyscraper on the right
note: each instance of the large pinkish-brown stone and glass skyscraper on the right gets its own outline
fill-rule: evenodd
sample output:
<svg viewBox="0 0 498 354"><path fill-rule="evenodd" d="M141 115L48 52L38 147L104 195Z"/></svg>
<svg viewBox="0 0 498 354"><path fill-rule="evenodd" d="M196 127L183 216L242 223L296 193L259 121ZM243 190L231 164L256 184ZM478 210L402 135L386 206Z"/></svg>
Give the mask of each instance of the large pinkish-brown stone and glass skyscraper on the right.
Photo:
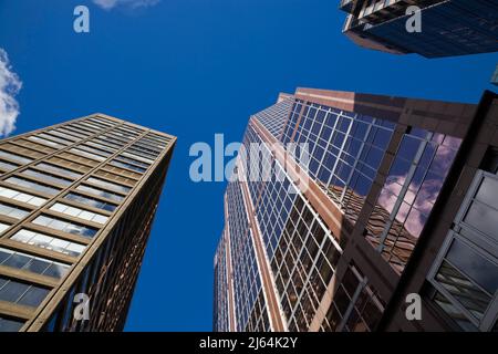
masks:
<svg viewBox="0 0 498 354"><path fill-rule="evenodd" d="M497 331L496 94L298 88L250 117L243 146L216 331ZM405 313L414 302L422 319Z"/></svg>

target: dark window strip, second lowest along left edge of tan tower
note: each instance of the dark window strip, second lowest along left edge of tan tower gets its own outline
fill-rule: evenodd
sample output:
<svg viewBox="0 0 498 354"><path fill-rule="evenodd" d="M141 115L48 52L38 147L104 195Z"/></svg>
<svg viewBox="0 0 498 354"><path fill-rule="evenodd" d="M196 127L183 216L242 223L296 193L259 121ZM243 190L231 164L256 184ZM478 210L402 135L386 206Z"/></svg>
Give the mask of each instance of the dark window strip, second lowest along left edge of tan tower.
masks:
<svg viewBox="0 0 498 354"><path fill-rule="evenodd" d="M0 300L37 308L50 290L0 277Z"/></svg>

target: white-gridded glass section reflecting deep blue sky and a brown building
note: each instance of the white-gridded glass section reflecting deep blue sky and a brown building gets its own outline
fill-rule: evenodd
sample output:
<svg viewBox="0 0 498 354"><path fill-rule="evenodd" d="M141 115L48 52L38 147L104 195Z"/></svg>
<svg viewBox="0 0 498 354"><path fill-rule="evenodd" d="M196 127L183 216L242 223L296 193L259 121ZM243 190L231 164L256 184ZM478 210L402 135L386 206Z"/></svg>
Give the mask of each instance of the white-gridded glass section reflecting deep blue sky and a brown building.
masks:
<svg viewBox="0 0 498 354"><path fill-rule="evenodd" d="M301 110L301 108L299 108ZM299 111L298 111L299 112ZM289 124L295 124L297 113ZM287 131L290 142L291 131ZM357 216L384 157L394 124L346 111L308 104L295 129L294 142L307 144L310 176L344 211ZM299 155L293 153L297 160Z"/></svg>

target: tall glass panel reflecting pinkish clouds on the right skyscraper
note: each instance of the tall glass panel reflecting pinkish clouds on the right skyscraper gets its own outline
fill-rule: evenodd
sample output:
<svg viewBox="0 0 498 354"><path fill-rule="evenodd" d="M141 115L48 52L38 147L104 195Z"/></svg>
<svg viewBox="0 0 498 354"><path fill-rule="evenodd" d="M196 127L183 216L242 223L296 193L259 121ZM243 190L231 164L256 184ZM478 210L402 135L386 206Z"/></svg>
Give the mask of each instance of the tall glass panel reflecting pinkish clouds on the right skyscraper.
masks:
<svg viewBox="0 0 498 354"><path fill-rule="evenodd" d="M366 239L398 273L403 272L460 139L413 128L403 136L367 222Z"/></svg>

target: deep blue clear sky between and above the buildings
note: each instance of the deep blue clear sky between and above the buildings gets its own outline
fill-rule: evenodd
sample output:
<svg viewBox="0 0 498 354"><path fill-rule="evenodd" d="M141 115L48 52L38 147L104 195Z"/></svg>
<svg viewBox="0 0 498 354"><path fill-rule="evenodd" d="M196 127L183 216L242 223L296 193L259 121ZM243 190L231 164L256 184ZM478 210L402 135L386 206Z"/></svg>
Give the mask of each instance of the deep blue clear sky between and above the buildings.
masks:
<svg viewBox="0 0 498 354"><path fill-rule="evenodd" d="M0 0L0 48L22 81L13 134L103 112L178 136L129 331L211 330L225 184L190 181L193 143L240 140L250 114L297 86L469 103L492 88L496 53L363 50L342 35L339 1L155 2ZM90 9L87 34L73 31L77 4Z"/></svg>

